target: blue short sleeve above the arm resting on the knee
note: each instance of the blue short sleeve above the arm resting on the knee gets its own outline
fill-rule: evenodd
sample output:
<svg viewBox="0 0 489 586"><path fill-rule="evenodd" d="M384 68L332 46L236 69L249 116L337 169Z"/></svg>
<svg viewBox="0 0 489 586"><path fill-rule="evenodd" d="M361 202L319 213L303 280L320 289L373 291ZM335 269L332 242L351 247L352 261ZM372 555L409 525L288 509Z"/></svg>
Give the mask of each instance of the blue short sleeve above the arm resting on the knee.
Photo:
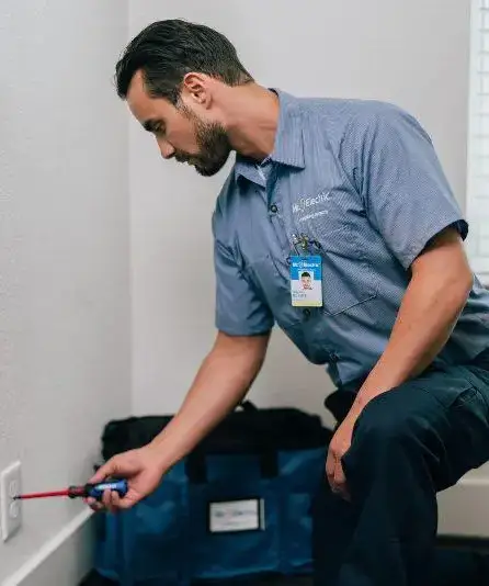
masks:
<svg viewBox="0 0 489 586"><path fill-rule="evenodd" d="M468 224L422 126L395 106L376 112L360 155L367 217L405 269L447 226Z"/></svg>

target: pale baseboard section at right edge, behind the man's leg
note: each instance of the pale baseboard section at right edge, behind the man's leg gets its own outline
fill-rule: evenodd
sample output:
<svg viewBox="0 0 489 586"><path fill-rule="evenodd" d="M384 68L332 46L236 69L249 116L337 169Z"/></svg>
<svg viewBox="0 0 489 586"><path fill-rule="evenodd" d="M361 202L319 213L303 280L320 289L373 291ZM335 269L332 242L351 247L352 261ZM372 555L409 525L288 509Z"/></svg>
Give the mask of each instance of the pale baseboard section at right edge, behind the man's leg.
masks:
<svg viewBox="0 0 489 586"><path fill-rule="evenodd" d="M489 538L489 477L464 477L439 494L439 534Z"/></svg>

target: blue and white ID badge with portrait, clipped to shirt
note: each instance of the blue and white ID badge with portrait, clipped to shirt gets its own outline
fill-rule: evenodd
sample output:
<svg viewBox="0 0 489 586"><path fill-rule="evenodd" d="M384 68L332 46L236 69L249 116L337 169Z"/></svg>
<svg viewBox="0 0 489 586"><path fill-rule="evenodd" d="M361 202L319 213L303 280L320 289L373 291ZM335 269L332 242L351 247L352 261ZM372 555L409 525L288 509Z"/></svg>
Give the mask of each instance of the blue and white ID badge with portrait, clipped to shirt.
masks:
<svg viewBox="0 0 489 586"><path fill-rule="evenodd" d="M291 257L291 297L294 307L321 307L321 257Z"/></svg>

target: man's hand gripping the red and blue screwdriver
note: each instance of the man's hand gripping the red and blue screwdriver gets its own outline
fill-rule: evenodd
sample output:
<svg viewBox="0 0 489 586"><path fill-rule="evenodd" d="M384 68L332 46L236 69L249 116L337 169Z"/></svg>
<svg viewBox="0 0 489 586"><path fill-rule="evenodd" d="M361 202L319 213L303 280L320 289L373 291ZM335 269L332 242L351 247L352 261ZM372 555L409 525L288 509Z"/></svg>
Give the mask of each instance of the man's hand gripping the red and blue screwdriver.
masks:
<svg viewBox="0 0 489 586"><path fill-rule="evenodd" d="M103 464L89 483L104 482L110 477L126 478L127 494L121 498L117 493L106 491L102 502L88 498L87 503L95 511L103 508L111 512L128 509L158 487L164 472L153 446L120 453Z"/></svg>

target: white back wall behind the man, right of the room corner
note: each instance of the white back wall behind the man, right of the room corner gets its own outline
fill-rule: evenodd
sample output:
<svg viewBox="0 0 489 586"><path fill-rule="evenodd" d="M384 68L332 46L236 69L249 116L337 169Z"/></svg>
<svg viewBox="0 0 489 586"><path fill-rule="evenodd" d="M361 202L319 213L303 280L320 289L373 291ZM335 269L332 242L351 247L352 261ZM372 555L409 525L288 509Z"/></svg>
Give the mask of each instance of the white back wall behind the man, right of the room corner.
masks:
<svg viewBox="0 0 489 586"><path fill-rule="evenodd" d="M236 44L265 86L298 95L394 101L432 134L452 185L465 194L468 5L445 0L129 1L129 36L185 18ZM211 213L226 176L204 179L162 161L132 121L133 399L137 413L175 409L214 338ZM179 281L179 293L172 285ZM183 291L183 293L182 293ZM277 331L252 397L322 413L331 390Z"/></svg>

